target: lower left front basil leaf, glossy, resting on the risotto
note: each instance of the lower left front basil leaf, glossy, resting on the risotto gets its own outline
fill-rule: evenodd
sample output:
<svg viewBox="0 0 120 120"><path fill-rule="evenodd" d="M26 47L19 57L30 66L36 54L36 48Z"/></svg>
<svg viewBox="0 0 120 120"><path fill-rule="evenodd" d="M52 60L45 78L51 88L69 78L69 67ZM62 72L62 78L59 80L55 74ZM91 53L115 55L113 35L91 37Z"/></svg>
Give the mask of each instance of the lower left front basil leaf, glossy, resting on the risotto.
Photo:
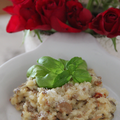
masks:
<svg viewBox="0 0 120 120"><path fill-rule="evenodd" d="M53 88L53 83L56 78L56 74L54 73L48 73L45 76L37 76L36 77L36 82L39 87L44 87L44 88Z"/></svg>

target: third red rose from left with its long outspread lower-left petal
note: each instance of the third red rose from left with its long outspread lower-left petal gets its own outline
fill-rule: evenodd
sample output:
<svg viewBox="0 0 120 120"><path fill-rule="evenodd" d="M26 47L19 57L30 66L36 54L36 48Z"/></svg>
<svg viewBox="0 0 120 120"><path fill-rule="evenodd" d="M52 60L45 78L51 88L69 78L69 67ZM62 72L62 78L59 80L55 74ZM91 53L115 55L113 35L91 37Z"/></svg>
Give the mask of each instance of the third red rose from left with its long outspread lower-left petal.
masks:
<svg viewBox="0 0 120 120"><path fill-rule="evenodd" d="M52 27L59 32L81 32L86 30L92 19L91 12L83 8L78 0L67 0L66 5L66 16L71 26L53 17L51 20Z"/></svg>

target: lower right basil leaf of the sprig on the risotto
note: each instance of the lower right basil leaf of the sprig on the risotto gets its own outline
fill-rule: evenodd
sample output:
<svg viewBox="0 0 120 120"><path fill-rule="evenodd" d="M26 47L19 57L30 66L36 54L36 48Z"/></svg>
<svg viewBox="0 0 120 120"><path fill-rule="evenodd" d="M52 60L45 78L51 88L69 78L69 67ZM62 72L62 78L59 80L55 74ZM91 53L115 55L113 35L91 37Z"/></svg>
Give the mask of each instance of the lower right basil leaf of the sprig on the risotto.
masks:
<svg viewBox="0 0 120 120"><path fill-rule="evenodd" d="M87 70L83 70L83 69L77 69L76 71L74 71L74 73L72 74L73 80L74 82L91 82L92 77L89 74L89 72Z"/></svg>

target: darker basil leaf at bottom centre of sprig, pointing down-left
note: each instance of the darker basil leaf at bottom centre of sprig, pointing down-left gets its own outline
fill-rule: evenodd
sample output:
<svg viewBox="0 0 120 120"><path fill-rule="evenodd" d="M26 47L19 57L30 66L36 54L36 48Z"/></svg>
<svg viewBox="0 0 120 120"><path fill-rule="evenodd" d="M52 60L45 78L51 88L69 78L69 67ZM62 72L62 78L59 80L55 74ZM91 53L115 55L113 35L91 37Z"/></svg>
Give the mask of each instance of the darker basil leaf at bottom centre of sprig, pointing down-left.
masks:
<svg viewBox="0 0 120 120"><path fill-rule="evenodd" d="M61 87L65 83L68 83L70 79L71 79L71 75L69 74L69 71L65 70L61 74L57 75L57 77L55 78L53 87L54 88Z"/></svg>

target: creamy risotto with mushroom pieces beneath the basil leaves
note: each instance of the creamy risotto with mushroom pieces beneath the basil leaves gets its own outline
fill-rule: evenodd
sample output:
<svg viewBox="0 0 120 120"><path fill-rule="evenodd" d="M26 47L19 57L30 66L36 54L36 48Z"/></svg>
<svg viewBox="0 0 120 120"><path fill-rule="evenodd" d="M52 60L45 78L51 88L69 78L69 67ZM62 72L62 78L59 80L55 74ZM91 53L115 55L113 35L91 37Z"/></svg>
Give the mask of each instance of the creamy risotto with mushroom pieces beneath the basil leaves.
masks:
<svg viewBox="0 0 120 120"><path fill-rule="evenodd" d="M111 120L115 99L108 98L101 77L88 70L92 82L72 83L53 89L39 88L36 80L14 89L11 103L22 111L22 120Z"/></svg>

